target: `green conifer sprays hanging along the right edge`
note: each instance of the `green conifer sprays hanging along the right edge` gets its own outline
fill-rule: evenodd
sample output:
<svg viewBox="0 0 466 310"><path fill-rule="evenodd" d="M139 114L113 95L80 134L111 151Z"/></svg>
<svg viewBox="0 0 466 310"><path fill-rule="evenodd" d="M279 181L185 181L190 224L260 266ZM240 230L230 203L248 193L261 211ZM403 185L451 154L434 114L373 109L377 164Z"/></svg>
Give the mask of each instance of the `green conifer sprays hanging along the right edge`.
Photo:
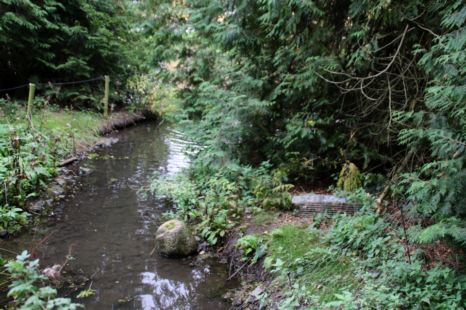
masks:
<svg viewBox="0 0 466 310"><path fill-rule="evenodd" d="M462 1L430 3L426 12L438 14L432 29L433 45L417 45L419 65L432 76L426 89L425 109L399 113L398 119L415 126L402 131L409 148L428 147L430 154L416 172L405 175L410 210L437 223L420 235L422 242L445 237L466 245L465 100L466 5Z"/></svg>

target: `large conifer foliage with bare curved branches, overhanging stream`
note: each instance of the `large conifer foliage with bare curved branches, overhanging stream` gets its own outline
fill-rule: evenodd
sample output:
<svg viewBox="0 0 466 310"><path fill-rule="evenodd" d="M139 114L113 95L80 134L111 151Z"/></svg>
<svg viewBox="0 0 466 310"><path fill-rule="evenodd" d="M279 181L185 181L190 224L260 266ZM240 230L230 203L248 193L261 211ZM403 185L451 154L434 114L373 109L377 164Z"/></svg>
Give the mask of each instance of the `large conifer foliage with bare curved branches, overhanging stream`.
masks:
<svg viewBox="0 0 466 310"><path fill-rule="evenodd" d="M392 112L421 108L426 75L412 51L431 36L410 21L439 20L421 1L147 3L147 60L179 61L165 71L183 99L173 117L202 144L301 176L404 157L407 124Z"/></svg>

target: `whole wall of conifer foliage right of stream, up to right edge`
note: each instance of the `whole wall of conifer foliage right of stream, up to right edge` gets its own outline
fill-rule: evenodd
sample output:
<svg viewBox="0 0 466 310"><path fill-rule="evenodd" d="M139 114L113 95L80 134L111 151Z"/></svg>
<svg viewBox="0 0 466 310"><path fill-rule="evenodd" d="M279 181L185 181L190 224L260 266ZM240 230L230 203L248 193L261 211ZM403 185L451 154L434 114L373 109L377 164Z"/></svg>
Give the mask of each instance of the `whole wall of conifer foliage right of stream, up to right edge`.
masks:
<svg viewBox="0 0 466 310"><path fill-rule="evenodd" d="M231 166L240 168L225 182L239 185L231 174L264 161L268 175L290 180L347 167L341 188L359 185L356 171L385 179L381 200L397 194L412 216L431 220L418 241L464 248L464 1L146 5L147 60L181 99L167 117L202 146L190 180L202 186Z"/></svg>

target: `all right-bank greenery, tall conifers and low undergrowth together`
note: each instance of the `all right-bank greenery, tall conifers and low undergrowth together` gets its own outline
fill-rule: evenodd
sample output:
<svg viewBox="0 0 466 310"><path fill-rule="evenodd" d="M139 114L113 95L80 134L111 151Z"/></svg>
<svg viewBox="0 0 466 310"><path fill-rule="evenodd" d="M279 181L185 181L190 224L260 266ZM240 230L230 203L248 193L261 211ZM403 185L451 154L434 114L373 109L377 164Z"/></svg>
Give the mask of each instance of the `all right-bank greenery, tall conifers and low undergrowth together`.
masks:
<svg viewBox="0 0 466 310"><path fill-rule="evenodd" d="M464 1L147 5L148 60L161 70L178 61L161 75L181 99L166 117L198 145L187 171L150 187L177 202L170 217L216 245L246 208L289 209L289 180L339 176L345 192L335 193L362 201L360 214L335 217L324 233L286 226L239 239L277 274L261 302L465 308L464 275L427 266L419 246L465 250ZM407 233L392 214L399 204ZM303 240L309 248L296 249ZM285 297L273 305L268 291Z"/></svg>

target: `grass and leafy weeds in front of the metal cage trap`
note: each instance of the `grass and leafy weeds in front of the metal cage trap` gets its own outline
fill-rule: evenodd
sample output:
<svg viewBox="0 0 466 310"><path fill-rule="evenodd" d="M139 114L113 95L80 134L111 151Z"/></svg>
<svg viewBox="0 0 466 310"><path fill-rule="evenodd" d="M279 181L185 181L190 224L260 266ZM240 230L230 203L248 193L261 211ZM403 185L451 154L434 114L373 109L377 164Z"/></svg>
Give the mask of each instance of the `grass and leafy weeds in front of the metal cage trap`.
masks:
<svg viewBox="0 0 466 310"><path fill-rule="evenodd" d="M253 263L265 257L259 263L269 281L259 284L259 307L465 309L466 276L441 262L425 268L424 251L406 241L393 215L317 216L310 226L240 238Z"/></svg>

